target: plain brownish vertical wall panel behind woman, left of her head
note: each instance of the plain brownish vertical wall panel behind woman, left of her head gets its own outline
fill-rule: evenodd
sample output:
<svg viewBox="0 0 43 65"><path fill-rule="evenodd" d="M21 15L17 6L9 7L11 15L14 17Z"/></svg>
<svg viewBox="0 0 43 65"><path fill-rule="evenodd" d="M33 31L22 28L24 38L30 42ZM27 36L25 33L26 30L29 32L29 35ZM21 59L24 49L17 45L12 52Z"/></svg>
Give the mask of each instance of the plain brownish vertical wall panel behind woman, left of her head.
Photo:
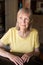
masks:
<svg viewBox="0 0 43 65"><path fill-rule="evenodd" d="M5 29L15 26L18 0L5 0Z"/></svg>

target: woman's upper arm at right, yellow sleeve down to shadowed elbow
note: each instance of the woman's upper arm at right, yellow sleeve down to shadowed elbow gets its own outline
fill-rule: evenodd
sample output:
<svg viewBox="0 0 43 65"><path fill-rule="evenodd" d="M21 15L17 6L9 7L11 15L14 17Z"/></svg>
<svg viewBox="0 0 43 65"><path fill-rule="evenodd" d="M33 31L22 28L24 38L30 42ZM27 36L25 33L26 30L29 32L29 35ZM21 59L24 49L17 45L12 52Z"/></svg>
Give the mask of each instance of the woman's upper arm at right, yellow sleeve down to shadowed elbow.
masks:
<svg viewBox="0 0 43 65"><path fill-rule="evenodd" d="M39 56L40 54L39 47L40 47L40 42L39 42L39 34L37 31L34 36L34 55L35 56Z"/></svg>

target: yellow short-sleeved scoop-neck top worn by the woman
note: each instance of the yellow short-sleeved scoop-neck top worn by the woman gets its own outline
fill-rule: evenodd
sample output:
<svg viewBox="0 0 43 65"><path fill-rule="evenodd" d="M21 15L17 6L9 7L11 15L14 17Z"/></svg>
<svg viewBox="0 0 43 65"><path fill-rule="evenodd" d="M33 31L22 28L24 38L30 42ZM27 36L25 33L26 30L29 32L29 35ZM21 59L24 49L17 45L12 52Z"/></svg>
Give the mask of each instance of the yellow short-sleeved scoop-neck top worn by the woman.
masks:
<svg viewBox="0 0 43 65"><path fill-rule="evenodd" d="M32 29L26 38L22 38L18 35L16 27L12 27L0 41L5 45L10 44L11 52L28 53L39 47L38 31L36 29Z"/></svg>

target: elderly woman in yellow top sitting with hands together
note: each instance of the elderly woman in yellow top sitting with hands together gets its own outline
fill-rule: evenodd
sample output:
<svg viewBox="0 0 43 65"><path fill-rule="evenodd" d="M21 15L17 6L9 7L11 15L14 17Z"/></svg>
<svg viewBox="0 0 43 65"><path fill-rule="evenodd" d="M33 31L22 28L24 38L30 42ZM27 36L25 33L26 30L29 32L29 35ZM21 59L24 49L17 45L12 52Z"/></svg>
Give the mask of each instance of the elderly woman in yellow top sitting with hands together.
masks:
<svg viewBox="0 0 43 65"><path fill-rule="evenodd" d="M0 56L11 60L15 65L28 64L31 56L39 52L38 31L32 28L32 17L29 9L20 9L17 13L17 23L0 39ZM13 55L2 49L10 45L10 52L20 53ZM26 64L26 65L27 65ZM12 64L11 64L12 65Z"/></svg>

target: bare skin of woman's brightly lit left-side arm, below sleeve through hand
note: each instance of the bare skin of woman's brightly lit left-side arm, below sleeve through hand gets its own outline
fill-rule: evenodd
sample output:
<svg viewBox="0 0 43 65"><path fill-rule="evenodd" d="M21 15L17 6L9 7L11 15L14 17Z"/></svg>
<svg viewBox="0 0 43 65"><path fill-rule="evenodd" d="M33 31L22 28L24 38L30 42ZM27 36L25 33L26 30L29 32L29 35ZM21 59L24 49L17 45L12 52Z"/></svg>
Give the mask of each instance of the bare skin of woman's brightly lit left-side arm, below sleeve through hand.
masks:
<svg viewBox="0 0 43 65"><path fill-rule="evenodd" d="M5 51L3 48L3 44L0 43L0 56L6 57L8 59L10 59L12 62L14 62L16 65L23 65L23 61L20 57L15 56L7 51Z"/></svg>

